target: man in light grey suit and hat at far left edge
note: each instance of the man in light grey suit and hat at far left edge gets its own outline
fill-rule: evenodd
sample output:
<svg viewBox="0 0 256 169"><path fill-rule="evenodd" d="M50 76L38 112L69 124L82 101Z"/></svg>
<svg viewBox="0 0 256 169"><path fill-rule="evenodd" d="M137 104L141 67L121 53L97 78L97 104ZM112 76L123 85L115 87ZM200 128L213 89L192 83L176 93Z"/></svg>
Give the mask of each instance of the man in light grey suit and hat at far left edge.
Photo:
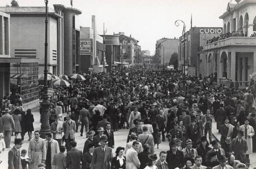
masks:
<svg viewBox="0 0 256 169"><path fill-rule="evenodd" d="M6 143L6 149L10 147L11 144L11 135L12 135L12 130L15 130L15 124L14 120L12 118L12 115L9 115L9 108L6 108L0 118L0 132L3 130L3 135L4 135L4 142Z"/></svg>

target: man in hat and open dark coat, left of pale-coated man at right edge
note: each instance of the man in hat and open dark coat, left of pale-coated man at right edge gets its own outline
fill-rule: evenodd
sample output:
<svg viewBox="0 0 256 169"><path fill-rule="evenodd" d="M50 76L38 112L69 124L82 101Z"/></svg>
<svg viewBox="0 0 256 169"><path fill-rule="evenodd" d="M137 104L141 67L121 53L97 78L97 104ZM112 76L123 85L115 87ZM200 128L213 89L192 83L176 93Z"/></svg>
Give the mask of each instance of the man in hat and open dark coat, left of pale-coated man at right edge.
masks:
<svg viewBox="0 0 256 169"><path fill-rule="evenodd" d="M221 125L221 148L225 152L230 152L231 138L233 135L234 126L229 124L229 117L225 117L224 124Z"/></svg>

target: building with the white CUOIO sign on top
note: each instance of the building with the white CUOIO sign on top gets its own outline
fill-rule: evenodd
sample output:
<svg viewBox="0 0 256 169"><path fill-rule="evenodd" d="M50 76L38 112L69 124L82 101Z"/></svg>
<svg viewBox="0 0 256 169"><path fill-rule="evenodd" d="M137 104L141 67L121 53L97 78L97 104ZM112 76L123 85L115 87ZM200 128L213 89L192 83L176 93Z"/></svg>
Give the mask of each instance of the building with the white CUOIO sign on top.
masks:
<svg viewBox="0 0 256 169"><path fill-rule="evenodd" d="M202 51L207 40L213 37L218 37L222 34L221 27L192 27L179 38L178 45L178 69L183 70L184 65L184 45L185 45L185 73L188 66L193 66L196 69L195 74L202 76L206 75L204 69L204 57ZM211 72L212 73L212 72Z"/></svg>

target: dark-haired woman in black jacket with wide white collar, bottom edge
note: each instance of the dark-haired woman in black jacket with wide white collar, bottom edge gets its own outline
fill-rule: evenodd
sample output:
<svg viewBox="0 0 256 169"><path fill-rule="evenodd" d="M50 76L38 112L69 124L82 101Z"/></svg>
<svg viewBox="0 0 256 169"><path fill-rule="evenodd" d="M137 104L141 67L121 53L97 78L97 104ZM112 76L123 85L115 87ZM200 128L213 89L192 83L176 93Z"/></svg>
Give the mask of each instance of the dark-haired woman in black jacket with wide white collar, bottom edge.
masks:
<svg viewBox="0 0 256 169"><path fill-rule="evenodd" d="M111 161L111 169L125 169L125 161L126 158L124 155L124 147L117 147L116 148L116 157L114 157Z"/></svg>

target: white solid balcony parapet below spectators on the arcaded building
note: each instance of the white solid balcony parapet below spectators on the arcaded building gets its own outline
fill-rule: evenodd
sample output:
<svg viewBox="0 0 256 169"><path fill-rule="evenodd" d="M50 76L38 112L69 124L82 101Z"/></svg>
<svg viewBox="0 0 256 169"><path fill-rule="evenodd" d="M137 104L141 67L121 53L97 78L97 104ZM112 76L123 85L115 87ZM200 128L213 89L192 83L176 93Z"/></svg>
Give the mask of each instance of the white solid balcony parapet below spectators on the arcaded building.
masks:
<svg viewBox="0 0 256 169"><path fill-rule="evenodd" d="M224 47L224 46L239 46L239 45L256 45L256 37L229 37L227 39L219 40L206 44L204 50Z"/></svg>

